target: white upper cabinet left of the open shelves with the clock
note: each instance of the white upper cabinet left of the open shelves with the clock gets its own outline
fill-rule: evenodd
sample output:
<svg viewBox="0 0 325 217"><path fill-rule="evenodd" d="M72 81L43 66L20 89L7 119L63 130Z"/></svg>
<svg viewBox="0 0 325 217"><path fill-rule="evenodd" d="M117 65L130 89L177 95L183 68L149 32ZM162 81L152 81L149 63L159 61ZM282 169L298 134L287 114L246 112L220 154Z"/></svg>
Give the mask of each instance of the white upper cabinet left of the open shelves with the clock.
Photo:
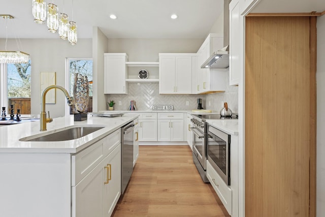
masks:
<svg viewBox="0 0 325 217"><path fill-rule="evenodd" d="M104 94L127 94L126 53L104 53Z"/></svg>

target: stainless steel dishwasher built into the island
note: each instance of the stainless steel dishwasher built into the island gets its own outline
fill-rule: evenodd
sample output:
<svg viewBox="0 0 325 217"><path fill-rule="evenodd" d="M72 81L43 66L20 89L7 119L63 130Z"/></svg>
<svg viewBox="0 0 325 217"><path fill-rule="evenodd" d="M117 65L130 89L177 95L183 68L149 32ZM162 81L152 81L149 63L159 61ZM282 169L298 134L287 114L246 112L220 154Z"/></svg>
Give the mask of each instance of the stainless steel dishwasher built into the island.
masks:
<svg viewBox="0 0 325 217"><path fill-rule="evenodd" d="M121 156L121 194L124 194L128 180L133 172L133 131L134 122L129 122L122 127L122 156Z"/></svg>

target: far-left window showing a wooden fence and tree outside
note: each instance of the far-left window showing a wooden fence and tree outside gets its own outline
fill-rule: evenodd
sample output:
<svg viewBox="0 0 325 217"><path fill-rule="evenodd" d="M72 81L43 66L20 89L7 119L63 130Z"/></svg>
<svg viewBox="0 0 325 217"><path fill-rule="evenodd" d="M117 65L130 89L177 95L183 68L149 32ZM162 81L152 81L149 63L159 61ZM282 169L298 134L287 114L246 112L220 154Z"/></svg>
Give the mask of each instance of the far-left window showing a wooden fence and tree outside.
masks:
<svg viewBox="0 0 325 217"><path fill-rule="evenodd" d="M1 64L1 104L9 114L10 105L14 112L30 114L30 60L27 64Z"/></svg>

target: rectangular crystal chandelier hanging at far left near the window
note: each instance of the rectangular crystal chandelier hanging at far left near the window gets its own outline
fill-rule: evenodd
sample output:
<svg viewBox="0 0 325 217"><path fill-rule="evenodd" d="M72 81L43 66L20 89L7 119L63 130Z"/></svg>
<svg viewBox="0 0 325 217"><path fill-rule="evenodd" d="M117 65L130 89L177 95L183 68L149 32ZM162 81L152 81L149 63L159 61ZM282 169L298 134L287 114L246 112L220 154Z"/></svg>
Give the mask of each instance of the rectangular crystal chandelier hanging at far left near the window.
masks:
<svg viewBox="0 0 325 217"><path fill-rule="evenodd" d="M7 39L8 39L7 20L14 19L14 17L8 14L0 15L0 17L6 19L6 50L0 51L0 64L28 63L29 61L28 53L24 53L21 51L7 51Z"/></svg>

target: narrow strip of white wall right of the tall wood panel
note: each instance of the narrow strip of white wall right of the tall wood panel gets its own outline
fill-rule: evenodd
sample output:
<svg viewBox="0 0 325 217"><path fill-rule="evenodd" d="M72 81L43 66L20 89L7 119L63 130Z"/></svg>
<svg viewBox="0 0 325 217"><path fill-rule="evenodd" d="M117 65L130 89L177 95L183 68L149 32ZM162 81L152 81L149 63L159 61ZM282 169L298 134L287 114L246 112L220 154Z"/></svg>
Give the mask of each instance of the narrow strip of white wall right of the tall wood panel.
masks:
<svg viewBox="0 0 325 217"><path fill-rule="evenodd" d="M325 213L325 16L317 18L317 164L316 216Z"/></svg>

